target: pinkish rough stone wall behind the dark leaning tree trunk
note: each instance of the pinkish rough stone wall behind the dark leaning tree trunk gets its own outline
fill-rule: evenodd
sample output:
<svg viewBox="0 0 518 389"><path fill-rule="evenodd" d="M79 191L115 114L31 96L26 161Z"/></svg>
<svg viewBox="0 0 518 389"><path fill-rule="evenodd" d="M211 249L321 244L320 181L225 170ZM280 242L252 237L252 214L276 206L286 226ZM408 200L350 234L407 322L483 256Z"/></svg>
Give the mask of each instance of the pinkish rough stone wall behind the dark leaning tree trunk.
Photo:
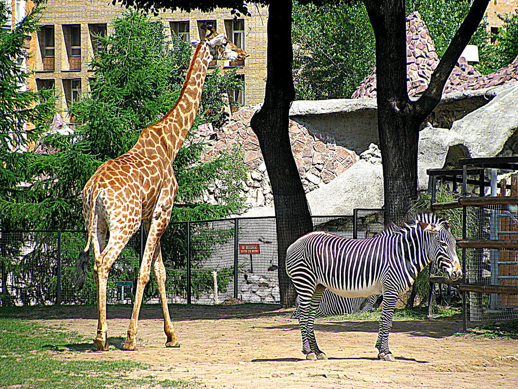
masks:
<svg viewBox="0 0 518 389"><path fill-rule="evenodd" d="M219 156L225 150L241 147L243 162L250 170L242 195L246 206L272 205L273 196L257 136L250 127L255 110L243 107L234 113L224 127L214 129L200 126L199 137L209 140L204 161ZM359 157L337 142L333 135L309 131L303 124L290 120L290 140L304 190L309 192L331 182L346 171ZM204 201L215 203L215 193L207 193Z"/></svg>

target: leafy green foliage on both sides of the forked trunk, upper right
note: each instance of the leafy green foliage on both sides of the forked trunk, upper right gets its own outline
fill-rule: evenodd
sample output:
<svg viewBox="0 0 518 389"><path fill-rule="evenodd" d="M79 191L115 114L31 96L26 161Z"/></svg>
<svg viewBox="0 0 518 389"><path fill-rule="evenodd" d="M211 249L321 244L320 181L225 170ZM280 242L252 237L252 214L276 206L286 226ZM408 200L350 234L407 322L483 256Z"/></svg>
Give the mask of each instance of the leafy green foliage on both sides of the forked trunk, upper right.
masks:
<svg viewBox="0 0 518 389"><path fill-rule="evenodd" d="M363 3L303 1L293 8L293 78L298 100L349 98L375 67L375 39ZM351 4L349 4L351 3ZM406 12L418 11L442 57L471 6L468 0L411 0ZM482 21L470 44L479 47L477 68L487 74L518 55L518 16L500 16L505 25L491 44Z"/></svg>

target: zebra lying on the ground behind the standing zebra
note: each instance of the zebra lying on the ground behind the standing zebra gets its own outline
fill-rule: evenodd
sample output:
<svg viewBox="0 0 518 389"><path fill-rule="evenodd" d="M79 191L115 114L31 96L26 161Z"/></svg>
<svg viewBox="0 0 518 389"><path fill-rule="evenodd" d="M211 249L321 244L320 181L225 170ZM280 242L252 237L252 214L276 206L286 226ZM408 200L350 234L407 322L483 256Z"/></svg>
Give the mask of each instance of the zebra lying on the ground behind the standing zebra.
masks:
<svg viewBox="0 0 518 389"><path fill-rule="evenodd" d="M300 297L297 296L295 301L297 308L295 308L290 316L292 319L300 316L299 300ZM332 291L326 289L322 294L319 307L316 309L315 317L345 315L355 312L372 312L379 307L382 300L382 295L348 298L335 295Z"/></svg>

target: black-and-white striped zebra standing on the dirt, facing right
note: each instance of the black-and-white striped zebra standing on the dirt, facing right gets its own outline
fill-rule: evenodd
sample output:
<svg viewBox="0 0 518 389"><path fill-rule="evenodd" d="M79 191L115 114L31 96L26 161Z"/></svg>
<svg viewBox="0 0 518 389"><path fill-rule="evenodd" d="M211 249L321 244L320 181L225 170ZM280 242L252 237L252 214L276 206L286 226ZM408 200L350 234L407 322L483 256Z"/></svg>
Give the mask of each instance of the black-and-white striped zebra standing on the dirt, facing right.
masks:
<svg viewBox="0 0 518 389"><path fill-rule="evenodd" d="M286 272L300 297L299 327L306 359L327 359L316 344L313 329L316 309L327 288L342 297L383 294L376 348L379 359L394 362L389 332L398 296L431 261L452 280L462 275L450 230L449 221L423 213L370 239L313 231L291 244L286 252Z"/></svg>

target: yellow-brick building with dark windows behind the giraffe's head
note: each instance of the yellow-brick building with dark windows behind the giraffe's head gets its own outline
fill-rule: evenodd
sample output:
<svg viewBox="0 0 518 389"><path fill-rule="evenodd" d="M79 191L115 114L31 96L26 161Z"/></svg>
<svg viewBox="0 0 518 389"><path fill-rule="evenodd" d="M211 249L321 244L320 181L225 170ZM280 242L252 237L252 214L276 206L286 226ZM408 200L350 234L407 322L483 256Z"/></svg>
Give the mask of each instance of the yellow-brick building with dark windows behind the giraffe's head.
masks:
<svg viewBox="0 0 518 389"><path fill-rule="evenodd" d="M3 0L5 1L5 0ZM23 0L11 0L23 3ZM14 4L13 4L14 6ZM27 2L27 7L32 6ZM18 6L20 7L20 6ZM162 12L153 20L161 20L166 33L178 35L185 41L199 39L204 34L201 25L211 22L236 45L250 55L244 61L214 61L223 71L238 66L237 74L244 81L244 93L234 92L239 105L258 104L264 99L266 80L267 8L254 8L251 17L233 19L229 9L210 13L192 11ZM58 106L64 113L67 106L89 91L93 72L89 62L98 49L95 35L109 34L110 21L121 15L122 9L106 0L48 0L46 11L39 20L37 36L31 39L33 58L28 64L35 73L35 86L55 88L60 96ZM210 72L210 68L209 68ZM70 119L64 115L64 121Z"/></svg>

